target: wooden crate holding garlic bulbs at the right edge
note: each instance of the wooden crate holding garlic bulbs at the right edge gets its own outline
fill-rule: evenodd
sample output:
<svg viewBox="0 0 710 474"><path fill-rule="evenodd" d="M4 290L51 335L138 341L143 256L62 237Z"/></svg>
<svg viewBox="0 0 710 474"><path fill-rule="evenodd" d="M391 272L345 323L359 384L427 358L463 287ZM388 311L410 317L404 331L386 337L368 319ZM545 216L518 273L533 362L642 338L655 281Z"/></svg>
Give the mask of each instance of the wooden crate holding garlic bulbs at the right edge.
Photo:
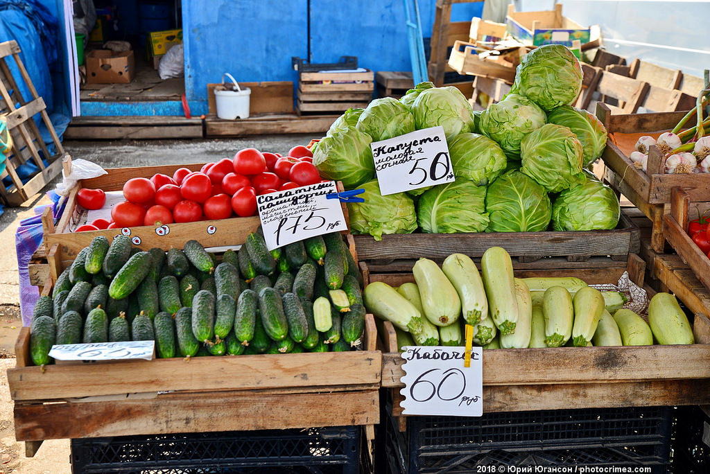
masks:
<svg viewBox="0 0 710 474"><path fill-rule="evenodd" d="M660 154L649 155L649 172L645 173L633 165L628 155L633 151L640 136L657 137L664 131L670 131L685 114L686 112L658 112L612 115L604 104L598 104L596 109L596 116L609 133L606 149L601 155L606 167L604 180L653 222L651 243L657 253L662 253L665 246L663 214L671 202L671 189L682 187L692 202L710 202L710 175L666 175L662 170L664 162Z"/></svg>

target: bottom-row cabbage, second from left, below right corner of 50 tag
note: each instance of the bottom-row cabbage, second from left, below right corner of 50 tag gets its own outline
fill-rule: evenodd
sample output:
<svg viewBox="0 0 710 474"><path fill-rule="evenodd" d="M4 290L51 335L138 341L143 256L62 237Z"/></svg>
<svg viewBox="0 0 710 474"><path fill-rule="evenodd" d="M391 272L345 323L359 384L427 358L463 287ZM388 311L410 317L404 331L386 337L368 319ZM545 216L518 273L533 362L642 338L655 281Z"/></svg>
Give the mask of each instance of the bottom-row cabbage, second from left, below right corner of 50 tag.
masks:
<svg viewBox="0 0 710 474"><path fill-rule="evenodd" d="M427 233L483 232L486 187L461 178L432 187L417 202L417 221Z"/></svg>

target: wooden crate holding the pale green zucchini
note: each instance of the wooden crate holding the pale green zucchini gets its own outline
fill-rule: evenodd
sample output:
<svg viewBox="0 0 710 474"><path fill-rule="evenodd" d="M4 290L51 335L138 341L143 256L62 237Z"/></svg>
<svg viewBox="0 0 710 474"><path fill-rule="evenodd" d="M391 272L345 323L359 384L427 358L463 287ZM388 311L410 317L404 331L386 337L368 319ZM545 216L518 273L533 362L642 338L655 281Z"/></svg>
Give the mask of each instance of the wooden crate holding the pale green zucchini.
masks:
<svg viewBox="0 0 710 474"><path fill-rule="evenodd" d="M560 262L564 265L564 262ZM364 264L366 265L366 264ZM626 270L643 285L645 263L629 255L628 267L515 270L516 277L577 276L590 284L616 283ZM403 273L373 273L368 282L400 285ZM652 290L647 287L647 291ZM692 346L528 348L484 351L484 412L544 409L648 407L706 404L710 400L710 326L696 324ZM404 371L391 324L382 324L382 386L393 389L393 414L402 416ZM406 424L400 418L400 429Z"/></svg>

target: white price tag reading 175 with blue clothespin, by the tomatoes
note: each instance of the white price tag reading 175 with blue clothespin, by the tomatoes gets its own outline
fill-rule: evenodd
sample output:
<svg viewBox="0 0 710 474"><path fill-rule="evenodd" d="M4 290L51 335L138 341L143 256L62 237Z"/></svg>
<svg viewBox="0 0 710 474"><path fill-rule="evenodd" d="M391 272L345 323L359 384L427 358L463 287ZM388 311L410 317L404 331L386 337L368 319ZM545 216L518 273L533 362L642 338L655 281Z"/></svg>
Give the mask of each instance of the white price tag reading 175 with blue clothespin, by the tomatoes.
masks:
<svg viewBox="0 0 710 474"><path fill-rule="evenodd" d="M304 238L347 228L334 181L309 184L256 197L266 247L283 247Z"/></svg>

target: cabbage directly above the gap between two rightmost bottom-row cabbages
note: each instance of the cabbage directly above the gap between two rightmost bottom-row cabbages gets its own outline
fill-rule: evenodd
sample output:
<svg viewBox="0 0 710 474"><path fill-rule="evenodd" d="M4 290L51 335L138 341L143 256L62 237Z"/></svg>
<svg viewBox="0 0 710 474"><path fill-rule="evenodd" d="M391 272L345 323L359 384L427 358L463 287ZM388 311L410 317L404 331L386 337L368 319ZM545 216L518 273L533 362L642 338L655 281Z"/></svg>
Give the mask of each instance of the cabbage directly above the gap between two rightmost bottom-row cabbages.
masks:
<svg viewBox="0 0 710 474"><path fill-rule="evenodd" d="M520 142L520 171L542 184L548 192L560 192L584 183L581 143L567 127L547 123Z"/></svg>

